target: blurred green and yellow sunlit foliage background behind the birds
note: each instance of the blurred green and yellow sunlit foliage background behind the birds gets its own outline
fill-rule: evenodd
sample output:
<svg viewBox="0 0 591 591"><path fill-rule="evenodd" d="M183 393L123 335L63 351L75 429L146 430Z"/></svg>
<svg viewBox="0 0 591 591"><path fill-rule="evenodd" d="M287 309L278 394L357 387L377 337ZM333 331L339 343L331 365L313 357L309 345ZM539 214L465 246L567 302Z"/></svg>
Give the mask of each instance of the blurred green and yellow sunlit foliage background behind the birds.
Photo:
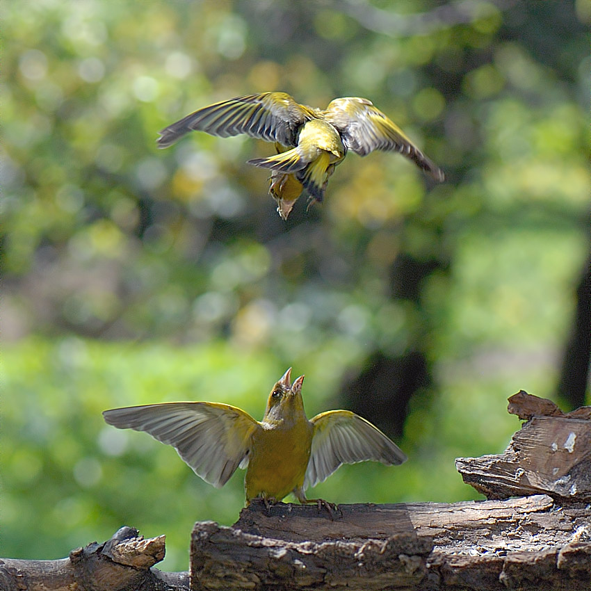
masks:
<svg viewBox="0 0 591 591"><path fill-rule="evenodd" d="M419 347L433 366L400 442L411 460L345 467L316 492L473 498L453 458L505 447L519 388L551 395L589 248L587 3L4 13L3 553L58 558L127 524L165 533L164 568L186 569L191 524L232 523L242 476L213 489L100 412L215 399L259 418L293 365L311 416L376 350ZM283 222L266 172L245 164L272 146L195 133L156 150L165 124L265 90L321 107L368 97L448 182L349 156L325 203ZM432 264L419 297L392 297L402 256Z"/></svg>

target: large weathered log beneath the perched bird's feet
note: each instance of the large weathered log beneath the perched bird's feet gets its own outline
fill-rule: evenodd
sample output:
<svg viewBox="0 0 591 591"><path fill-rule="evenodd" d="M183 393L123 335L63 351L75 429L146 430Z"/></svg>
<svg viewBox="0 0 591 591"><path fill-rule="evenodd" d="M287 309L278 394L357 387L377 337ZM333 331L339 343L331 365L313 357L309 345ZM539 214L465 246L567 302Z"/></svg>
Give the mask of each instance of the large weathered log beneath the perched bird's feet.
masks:
<svg viewBox="0 0 591 591"><path fill-rule="evenodd" d="M547 495L508 501L252 503L231 528L197 523L191 588L588 591L590 511ZM523 571L519 571L523 565Z"/></svg>

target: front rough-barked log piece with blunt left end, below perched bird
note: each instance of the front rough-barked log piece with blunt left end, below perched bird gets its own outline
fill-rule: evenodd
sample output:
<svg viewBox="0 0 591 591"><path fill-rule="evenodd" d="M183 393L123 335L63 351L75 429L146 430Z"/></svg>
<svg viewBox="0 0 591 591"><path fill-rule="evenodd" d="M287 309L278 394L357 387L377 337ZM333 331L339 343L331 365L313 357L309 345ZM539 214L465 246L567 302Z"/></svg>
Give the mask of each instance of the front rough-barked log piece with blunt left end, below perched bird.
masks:
<svg viewBox="0 0 591 591"><path fill-rule="evenodd" d="M193 530L191 580L200 590L416 588L430 549L416 535L286 542L205 522Z"/></svg>

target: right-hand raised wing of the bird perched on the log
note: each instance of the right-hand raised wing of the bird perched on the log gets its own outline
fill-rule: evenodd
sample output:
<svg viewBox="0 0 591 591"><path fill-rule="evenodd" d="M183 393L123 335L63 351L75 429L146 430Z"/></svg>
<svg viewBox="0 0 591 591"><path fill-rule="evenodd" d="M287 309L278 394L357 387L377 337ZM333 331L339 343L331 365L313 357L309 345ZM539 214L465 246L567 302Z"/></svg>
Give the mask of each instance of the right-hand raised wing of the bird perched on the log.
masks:
<svg viewBox="0 0 591 591"><path fill-rule="evenodd" d="M366 460L402 464L405 453L378 428L349 410L330 410L311 419L314 425L304 489L326 480L341 464Z"/></svg>

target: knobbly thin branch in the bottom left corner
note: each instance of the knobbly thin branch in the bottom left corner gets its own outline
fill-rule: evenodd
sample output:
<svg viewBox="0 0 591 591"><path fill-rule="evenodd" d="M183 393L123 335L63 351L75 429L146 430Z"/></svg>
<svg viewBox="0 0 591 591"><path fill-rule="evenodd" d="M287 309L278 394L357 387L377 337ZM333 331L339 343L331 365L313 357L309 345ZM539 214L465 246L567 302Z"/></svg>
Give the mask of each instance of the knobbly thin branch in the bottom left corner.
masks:
<svg viewBox="0 0 591 591"><path fill-rule="evenodd" d="M0 558L1 591L188 591L187 573L151 567L164 558L165 536L145 540L124 527L60 560Z"/></svg>

